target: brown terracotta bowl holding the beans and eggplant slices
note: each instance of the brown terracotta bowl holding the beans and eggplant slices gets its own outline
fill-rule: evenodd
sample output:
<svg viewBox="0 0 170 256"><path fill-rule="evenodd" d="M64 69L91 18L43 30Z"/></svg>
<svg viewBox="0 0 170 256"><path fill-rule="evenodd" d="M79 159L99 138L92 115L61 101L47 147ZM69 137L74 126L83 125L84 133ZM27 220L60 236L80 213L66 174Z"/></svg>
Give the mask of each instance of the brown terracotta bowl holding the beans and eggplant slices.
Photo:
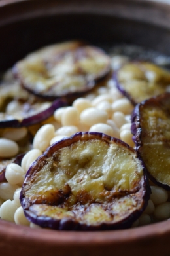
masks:
<svg viewBox="0 0 170 256"><path fill-rule="evenodd" d="M170 5L135 0L0 1L0 71L40 46L67 39L133 43L170 54ZM127 230L61 232L0 221L9 255L170 255L170 221Z"/></svg>

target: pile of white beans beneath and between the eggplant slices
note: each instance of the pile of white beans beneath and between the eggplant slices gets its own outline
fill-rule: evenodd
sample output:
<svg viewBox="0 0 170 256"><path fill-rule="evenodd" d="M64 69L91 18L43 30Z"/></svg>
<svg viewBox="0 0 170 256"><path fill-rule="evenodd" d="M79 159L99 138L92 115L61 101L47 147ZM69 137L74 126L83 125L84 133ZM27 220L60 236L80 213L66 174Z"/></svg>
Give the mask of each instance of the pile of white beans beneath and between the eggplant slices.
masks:
<svg viewBox="0 0 170 256"><path fill-rule="evenodd" d="M112 57L112 67L126 62L124 56ZM80 131L103 132L117 137L134 147L131 134L131 111L133 105L117 90L114 81L101 82L93 92L84 98L77 98L71 107L61 107L54 112L54 120L45 123L35 134L33 149L22 159L21 166L9 164L5 177L0 183L0 217L18 225L39 227L29 223L20 205L20 191L25 174L31 163L47 147L63 137ZM16 156L20 151L18 141L27 136L27 128L7 128L1 132L0 157ZM133 227L170 218L170 193L151 183L152 195L144 213L135 221Z"/></svg>

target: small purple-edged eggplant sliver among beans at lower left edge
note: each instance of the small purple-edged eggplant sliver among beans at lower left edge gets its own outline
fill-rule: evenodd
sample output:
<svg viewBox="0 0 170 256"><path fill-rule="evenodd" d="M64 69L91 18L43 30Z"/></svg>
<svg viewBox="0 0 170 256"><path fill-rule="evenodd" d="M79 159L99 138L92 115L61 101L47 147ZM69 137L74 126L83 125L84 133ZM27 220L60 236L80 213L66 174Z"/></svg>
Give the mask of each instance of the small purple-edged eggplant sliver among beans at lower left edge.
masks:
<svg viewBox="0 0 170 256"><path fill-rule="evenodd" d="M10 159L2 159L0 158L0 182L5 182L7 179L5 178L5 170L8 164L14 162L15 164L21 165L22 158L24 157L25 153L20 154L16 157L12 157Z"/></svg>

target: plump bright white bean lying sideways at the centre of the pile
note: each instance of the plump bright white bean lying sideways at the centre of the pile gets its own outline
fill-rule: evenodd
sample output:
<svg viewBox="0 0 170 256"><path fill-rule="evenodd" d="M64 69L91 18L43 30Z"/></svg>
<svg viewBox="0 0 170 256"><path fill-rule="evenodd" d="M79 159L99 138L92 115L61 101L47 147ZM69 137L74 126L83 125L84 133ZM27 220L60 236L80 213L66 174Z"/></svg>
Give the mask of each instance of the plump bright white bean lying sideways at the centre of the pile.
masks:
<svg viewBox="0 0 170 256"><path fill-rule="evenodd" d="M105 124L107 119L108 114L105 111L95 109L94 107L84 109L84 111L80 113L80 122L86 124L87 126L92 126L93 124L97 124L99 122Z"/></svg>

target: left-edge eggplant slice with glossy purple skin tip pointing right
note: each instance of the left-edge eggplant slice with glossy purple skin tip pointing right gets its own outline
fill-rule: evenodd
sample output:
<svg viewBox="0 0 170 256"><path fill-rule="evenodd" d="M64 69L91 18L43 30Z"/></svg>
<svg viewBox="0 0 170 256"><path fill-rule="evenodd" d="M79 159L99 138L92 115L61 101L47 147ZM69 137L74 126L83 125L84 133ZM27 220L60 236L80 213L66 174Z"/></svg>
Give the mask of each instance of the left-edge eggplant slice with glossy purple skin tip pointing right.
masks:
<svg viewBox="0 0 170 256"><path fill-rule="evenodd" d="M16 81L0 85L0 128L31 126L52 116L64 100L43 101L29 94Z"/></svg>

